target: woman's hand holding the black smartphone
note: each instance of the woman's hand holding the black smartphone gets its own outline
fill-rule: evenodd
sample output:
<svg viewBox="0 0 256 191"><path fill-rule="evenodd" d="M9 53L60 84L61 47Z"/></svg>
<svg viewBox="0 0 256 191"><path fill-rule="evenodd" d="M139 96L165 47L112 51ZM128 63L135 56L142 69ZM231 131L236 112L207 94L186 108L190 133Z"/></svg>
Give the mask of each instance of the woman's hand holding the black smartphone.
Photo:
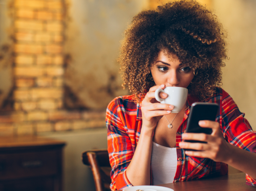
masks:
<svg viewBox="0 0 256 191"><path fill-rule="evenodd" d="M220 131L220 124L215 121L199 121L199 126L212 129L212 134L205 133L183 133L182 138L185 140L204 141L207 143L190 143L180 142L179 147L182 149L193 149L196 151L185 151L186 155L195 157L210 158L216 162L225 162L229 160L229 146Z"/></svg>

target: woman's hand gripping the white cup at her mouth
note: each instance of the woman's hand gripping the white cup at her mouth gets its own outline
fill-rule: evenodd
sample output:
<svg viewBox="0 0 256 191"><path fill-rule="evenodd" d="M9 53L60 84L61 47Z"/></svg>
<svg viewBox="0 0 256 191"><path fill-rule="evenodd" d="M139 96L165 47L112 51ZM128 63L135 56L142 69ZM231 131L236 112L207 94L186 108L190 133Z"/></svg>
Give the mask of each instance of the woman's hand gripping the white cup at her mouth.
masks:
<svg viewBox="0 0 256 191"><path fill-rule="evenodd" d="M155 99L155 91L158 88L165 88L165 85L156 85L149 89L145 98L141 102L141 113L142 113L142 125L146 127L147 130L154 130L159 119L163 115L171 113L171 110L174 108L173 105L159 103ZM160 98L167 98L167 94L160 92Z"/></svg>

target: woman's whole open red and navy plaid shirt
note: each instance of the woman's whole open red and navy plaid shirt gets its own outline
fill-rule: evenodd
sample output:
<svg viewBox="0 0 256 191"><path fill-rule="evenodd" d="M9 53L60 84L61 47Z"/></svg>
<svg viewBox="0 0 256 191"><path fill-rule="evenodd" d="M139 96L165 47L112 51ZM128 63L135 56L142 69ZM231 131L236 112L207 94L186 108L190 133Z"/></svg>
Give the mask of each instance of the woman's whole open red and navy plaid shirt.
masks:
<svg viewBox="0 0 256 191"><path fill-rule="evenodd" d="M185 132L187 117L192 103L198 102L195 97L188 97L185 115L176 135L177 147L177 171L174 182L200 179L203 177L220 176L228 173L228 165L214 162L208 158L190 157L185 155L179 147L182 134ZM220 123L223 137L230 144L241 149L256 153L256 132L244 118L230 97L221 88L209 103L217 103L220 107L216 121ZM141 110L139 104L135 104L132 95L113 99L106 110L106 126L108 128L108 153L112 167L110 172L112 183L111 190L121 190L132 186L126 176L126 169L132 160L141 131ZM152 184L152 175L151 175ZM246 184L256 186L256 180L246 175Z"/></svg>

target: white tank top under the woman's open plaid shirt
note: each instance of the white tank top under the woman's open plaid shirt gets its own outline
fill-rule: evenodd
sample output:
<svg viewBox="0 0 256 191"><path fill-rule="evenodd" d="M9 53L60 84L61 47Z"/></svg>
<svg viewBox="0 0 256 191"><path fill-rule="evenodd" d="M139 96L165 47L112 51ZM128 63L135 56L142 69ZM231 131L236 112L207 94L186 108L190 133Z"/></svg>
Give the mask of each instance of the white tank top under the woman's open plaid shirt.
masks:
<svg viewBox="0 0 256 191"><path fill-rule="evenodd" d="M164 147L153 142L151 168L153 185L173 182L177 170L176 148Z"/></svg>

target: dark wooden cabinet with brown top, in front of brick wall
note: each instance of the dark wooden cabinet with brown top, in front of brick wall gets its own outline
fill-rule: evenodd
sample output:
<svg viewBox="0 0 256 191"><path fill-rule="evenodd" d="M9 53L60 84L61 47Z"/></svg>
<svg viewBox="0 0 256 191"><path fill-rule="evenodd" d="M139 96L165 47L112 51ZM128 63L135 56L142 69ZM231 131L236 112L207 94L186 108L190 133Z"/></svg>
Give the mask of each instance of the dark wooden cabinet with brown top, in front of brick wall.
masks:
<svg viewBox="0 0 256 191"><path fill-rule="evenodd" d="M0 137L0 191L61 191L65 142Z"/></svg>

